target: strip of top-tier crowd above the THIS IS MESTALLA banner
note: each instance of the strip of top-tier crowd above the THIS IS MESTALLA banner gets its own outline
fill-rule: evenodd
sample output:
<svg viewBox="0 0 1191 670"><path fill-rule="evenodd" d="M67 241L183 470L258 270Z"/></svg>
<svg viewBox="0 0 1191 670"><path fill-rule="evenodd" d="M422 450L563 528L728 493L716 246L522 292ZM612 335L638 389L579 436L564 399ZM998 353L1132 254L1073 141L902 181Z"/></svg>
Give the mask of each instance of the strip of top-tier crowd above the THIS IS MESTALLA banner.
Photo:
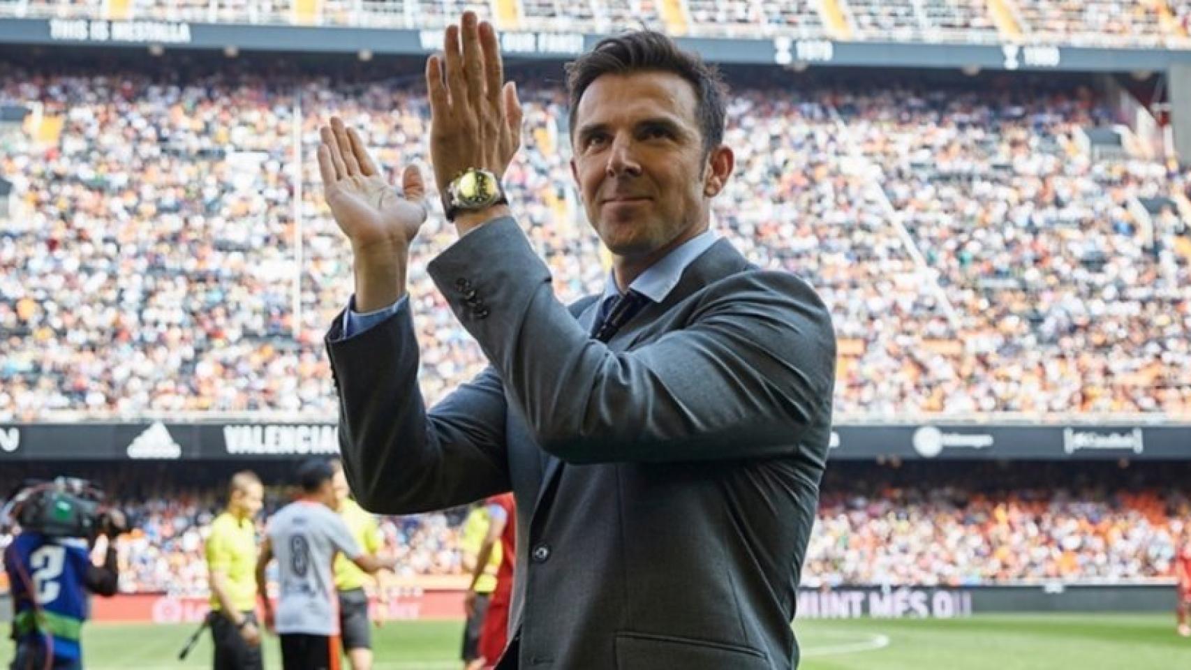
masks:
<svg viewBox="0 0 1191 670"><path fill-rule="evenodd" d="M509 31L613 33L665 26L710 37L785 35L878 42L1019 42L1158 45L1185 42L1185 0L523 0L497 14ZM494 18L484 0L139 0L108 7L94 0L0 4L19 17L123 18L248 24L310 24L435 29L463 11ZM998 25L999 24L999 25ZM830 26L830 27L829 27Z"/></svg>

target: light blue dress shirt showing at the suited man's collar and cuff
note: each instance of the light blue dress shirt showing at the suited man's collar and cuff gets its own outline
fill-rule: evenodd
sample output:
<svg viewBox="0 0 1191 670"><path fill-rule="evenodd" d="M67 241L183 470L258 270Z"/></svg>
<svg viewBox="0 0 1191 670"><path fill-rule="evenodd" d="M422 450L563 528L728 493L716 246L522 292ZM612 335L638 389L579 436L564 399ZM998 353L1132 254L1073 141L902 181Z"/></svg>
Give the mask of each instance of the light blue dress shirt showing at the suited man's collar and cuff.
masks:
<svg viewBox="0 0 1191 670"><path fill-rule="evenodd" d="M718 239L719 236L716 234L715 231L709 230L686 240L680 246L667 253L661 261L646 269L644 273L641 273L637 278L632 280L629 288L636 290L654 302L666 300L669 292L674 290L679 280L682 278L682 273L687 269L687 267L690 267L696 258L701 256L704 251L711 249L711 245ZM619 295L621 288L616 286L616 275L610 270L607 274L607 281L604 284L604 295L600 296L600 302L606 303ZM343 339L355 337L388 319L393 314L397 314L401 309L407 309L409 303L410 296L403 295L397 300L397 302L389 305L388 307L384 307L374 312L356 312L356 296L353 295L351 300L348 301L348 308L343 312Z"/></svg>

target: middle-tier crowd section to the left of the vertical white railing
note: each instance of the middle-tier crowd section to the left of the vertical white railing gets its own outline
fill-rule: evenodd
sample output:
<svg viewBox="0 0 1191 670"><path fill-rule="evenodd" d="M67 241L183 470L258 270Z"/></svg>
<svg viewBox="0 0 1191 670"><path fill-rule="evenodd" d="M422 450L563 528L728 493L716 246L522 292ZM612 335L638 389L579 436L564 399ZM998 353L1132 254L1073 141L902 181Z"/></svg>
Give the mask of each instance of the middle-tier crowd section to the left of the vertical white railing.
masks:
<svg viewBox="0 0 1191 670"><path fill-rule="evenodd" d="M57 138L7 132L0 417L325 407L292 337L288 92L216 75L10 71Z"/></svg>

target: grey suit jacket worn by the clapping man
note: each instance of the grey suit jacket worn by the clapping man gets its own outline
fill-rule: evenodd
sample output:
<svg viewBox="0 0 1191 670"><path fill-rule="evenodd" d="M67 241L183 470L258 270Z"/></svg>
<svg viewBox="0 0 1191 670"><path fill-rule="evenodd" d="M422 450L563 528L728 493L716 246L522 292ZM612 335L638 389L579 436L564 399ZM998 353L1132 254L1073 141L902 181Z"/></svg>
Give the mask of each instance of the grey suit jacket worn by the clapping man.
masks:
<svg viewBox="0 0 1191 670"><path fill-rule="evenodd" d="M491 367L426 412L409 309L345 340L336 319L343 459L378 513L513 491L501 668L796 666L835 375L815 292L719 240L604 344L512 219L429 271Z"/></svg>

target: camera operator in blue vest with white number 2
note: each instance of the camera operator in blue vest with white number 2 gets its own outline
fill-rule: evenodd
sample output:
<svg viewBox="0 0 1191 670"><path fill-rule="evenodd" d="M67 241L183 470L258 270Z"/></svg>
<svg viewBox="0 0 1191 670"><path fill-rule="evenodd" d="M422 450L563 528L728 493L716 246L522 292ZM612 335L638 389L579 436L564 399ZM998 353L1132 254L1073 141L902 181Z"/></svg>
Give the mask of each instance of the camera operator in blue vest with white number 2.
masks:
<svg viewBox="0 0 1191 670"><path fill-rule="evenodd" d="M58 484L61 487L61 484ZM24 505L38 495L32 494ZM55 513L70 512L69 497L51 497L45 505ZM116 593L119 572L112 539L126 530L124 514L107 511L87 516L89 533L63 533L38 527L31 518L14 514L20 533L5 551L5 571L12 589L12 639L15 657L12 670L81 670L80 633L87 619L87 591L110 596ZM93 522L93 525L92 525ZM95 565L91 549L99 536L107 538L104 564Z"/></svg>

